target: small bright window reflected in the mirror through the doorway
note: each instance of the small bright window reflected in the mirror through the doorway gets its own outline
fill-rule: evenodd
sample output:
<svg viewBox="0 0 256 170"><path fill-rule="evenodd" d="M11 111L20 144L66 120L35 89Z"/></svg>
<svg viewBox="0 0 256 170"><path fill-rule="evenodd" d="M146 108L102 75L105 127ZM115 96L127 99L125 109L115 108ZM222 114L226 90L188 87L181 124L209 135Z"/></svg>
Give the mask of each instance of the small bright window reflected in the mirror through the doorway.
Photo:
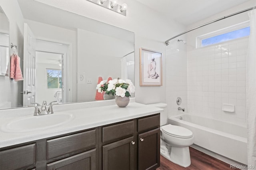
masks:
<svg viewBox="0 0 256 170"><path fill-rule="evenodd" d="M46 69L47 73L47 88L61 89L62 88L62 71L60 69Z"/></svg>

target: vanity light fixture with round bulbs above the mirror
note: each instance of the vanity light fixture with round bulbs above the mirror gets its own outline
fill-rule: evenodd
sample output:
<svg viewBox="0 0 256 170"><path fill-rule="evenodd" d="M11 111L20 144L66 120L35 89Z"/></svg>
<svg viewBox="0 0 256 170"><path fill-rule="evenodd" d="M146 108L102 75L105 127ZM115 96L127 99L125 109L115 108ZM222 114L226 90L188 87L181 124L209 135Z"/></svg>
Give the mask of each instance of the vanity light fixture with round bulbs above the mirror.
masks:
<svg viewBox="0 0 256 170"><path fill-rule="evenodd" d="M128 7L127 4L119 5L117 4L117 0L87 0L87 1L97 4L99 6L102 6L104 8L107 8L109 10L112 10L114 12L117 12L118 14L122 14L126 16L126 11Z"/></svg>

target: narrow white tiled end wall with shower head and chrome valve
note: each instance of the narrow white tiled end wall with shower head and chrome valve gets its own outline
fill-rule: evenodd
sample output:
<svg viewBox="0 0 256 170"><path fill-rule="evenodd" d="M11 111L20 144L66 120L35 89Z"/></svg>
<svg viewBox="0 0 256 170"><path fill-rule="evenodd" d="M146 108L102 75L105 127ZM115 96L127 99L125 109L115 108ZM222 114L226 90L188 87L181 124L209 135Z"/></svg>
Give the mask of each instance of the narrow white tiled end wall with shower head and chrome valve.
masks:
<svg viewBox="0 0 256 170"><path fill-rule="evenodd" d="M172 43L174 43L174 45ZM175 45L177 46L173 49ZM176 49L179 49L179 51ZM166 103L169 116L182 114L182 111L178 111L178 107L188 109L187 89L186 45L171 42L171 44L166 47ZM177 97L182 98L182 104L180 106L176 104Z"/></svg>

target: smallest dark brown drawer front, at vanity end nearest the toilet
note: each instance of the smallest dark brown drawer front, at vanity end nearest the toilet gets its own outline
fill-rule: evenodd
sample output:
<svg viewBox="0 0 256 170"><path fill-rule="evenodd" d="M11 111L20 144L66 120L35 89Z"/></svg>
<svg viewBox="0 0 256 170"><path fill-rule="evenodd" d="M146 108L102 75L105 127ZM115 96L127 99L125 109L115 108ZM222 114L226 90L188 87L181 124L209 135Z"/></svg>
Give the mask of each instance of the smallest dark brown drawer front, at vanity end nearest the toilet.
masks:
<svg viewBox="0 0 256 170"><path fill-rule="evenodd" d="M160 127L160 114L138 119L138 132Z"/></svg>

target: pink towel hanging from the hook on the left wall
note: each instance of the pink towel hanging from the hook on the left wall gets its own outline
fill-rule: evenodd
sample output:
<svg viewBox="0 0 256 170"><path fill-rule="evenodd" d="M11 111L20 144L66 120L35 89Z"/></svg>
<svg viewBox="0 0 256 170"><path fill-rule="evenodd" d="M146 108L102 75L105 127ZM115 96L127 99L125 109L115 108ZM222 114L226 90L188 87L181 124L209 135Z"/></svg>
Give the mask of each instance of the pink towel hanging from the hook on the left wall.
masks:
<svg viewBox="0 0 256 170"><path fill-rule="evenodd" d="M20 69L20 57L17 54L12 54L11 56L10 79L14 79L14 81L23 80L22 72Z"/></svg>

